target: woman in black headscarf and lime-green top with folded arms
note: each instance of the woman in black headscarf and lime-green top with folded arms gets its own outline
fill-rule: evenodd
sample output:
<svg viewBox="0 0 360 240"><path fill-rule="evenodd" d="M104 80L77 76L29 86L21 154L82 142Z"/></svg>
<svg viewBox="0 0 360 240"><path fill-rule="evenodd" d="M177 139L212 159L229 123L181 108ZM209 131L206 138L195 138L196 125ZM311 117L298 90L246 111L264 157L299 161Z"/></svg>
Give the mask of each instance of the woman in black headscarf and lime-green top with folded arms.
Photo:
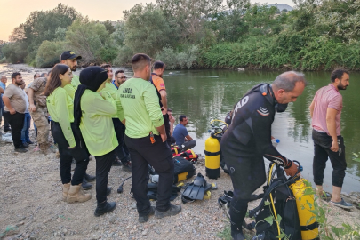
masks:
<svg viewBox="0 0 360 240"><path fill-rule="evenodd" d="M100 216L112 212L116 203L108 203L108 172L115 159L118 145L112 116L116 115L116 101L109 92L101 92L108 79L107 71L100 67L88 67L80 73L80 85L74 99L74 117L87 148L96 159L96 200L94 212Z"/></svg>

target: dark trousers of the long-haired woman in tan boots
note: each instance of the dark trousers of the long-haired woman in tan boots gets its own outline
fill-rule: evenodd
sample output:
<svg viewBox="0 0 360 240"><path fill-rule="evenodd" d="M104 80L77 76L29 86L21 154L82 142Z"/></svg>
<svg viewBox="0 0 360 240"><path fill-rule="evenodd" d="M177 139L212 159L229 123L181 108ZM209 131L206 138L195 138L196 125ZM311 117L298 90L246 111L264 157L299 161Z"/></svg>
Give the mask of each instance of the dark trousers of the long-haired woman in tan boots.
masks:
<svg viewBox="0 0 360 240"><path fill-rule="evenodd" d="M76 141L76 147L69 149L68 140L65 139L64 133L60 127L60 124L53 122L52 125L52 137L58 143L60 154L60 177L62 184L69 183L71 185L79 185L83 182L84 174L89 164L89 152L83 140L79 140L75 134L75 126L71 124L73 134ZM71 162L75 158L76 167L71 180Z"/></svg>

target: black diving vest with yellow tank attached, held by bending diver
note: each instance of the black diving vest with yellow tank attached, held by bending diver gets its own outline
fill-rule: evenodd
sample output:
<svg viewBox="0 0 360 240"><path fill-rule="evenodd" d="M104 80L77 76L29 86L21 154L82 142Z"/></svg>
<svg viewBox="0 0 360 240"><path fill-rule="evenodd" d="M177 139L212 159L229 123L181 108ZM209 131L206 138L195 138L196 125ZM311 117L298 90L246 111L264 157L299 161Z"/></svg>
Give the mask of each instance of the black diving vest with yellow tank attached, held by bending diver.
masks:
<svg viewBox="0 0 360 240"><path fill-rule="evenodd" d="M286 178L284 170L276 165L270 164L268 172L268 184L264 188L264 194L258 207L249 211L249 217L255 217L255 229L257 236L252 240L277 240L276 236L284 234L291 240L318 240L318 229L315 215L310 212L314 210L314 196L306 194L306 180L301 179L297 174L302 170L300 163L295 176ZM276 166L276 172L273 171ZM277 178L274 179L275 173ZM266 202L268 201L268 204ZM279 223L272 221L269 217L277 219Z"/></svg>

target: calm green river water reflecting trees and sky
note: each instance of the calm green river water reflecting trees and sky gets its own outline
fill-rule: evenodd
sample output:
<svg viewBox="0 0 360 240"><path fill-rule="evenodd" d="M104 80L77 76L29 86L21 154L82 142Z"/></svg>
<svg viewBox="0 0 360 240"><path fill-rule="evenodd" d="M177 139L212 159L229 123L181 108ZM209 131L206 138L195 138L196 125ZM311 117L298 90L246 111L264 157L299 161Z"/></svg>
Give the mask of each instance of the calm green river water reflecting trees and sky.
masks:
<svg viewBox="0 0 360 240"><path fill-rule="evenodd" d="M0 65L0 73L8 76L8 79L12 70L20 70L28 84L35 72L46 72L48 69L29 68L26 65ZM132 76L132 69L125 68L124 72L126 76ZM79 74L79 71L76 71L76 74ZM178 124L181 114L188 116L188 132L197 142L194 150L204 156L204 142L209 137L210 121L224 120L228 111L253 85L271 83L279 74L280 72L234 70L165 71L168 106L177 118L175 124ZM308 106L316 91L330 83L330 73L307 72L305 75L308 87L296 102L289 104L284 113L276 113L272 135L280 140L278 151L289 159L300 161L304 168L303 177L313 182L313 141ZM357 92L357 89L360 89L360 82L357 81L359 78L359 73L352 73L348 89L340 92L343 96L341 135L345 140L348 163L343 191L348 193L360 190L360 163L351 157L352 153L360 152L360 95ZM332 191L330 161L324 172L324 188Z"/></svg>

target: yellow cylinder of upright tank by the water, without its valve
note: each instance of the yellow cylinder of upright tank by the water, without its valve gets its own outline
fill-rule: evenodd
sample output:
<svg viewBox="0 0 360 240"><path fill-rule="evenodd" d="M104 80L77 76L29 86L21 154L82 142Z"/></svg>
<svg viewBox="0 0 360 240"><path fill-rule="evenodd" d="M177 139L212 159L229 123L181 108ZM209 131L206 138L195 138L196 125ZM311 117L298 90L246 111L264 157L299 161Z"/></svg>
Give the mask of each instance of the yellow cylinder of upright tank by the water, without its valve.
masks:
<svg viewBox="0 0 360 240"><path fill-rule="evenodd" d="M220 142L212 136L205 141L205 172L209 179L220 178Z"/></svg>

